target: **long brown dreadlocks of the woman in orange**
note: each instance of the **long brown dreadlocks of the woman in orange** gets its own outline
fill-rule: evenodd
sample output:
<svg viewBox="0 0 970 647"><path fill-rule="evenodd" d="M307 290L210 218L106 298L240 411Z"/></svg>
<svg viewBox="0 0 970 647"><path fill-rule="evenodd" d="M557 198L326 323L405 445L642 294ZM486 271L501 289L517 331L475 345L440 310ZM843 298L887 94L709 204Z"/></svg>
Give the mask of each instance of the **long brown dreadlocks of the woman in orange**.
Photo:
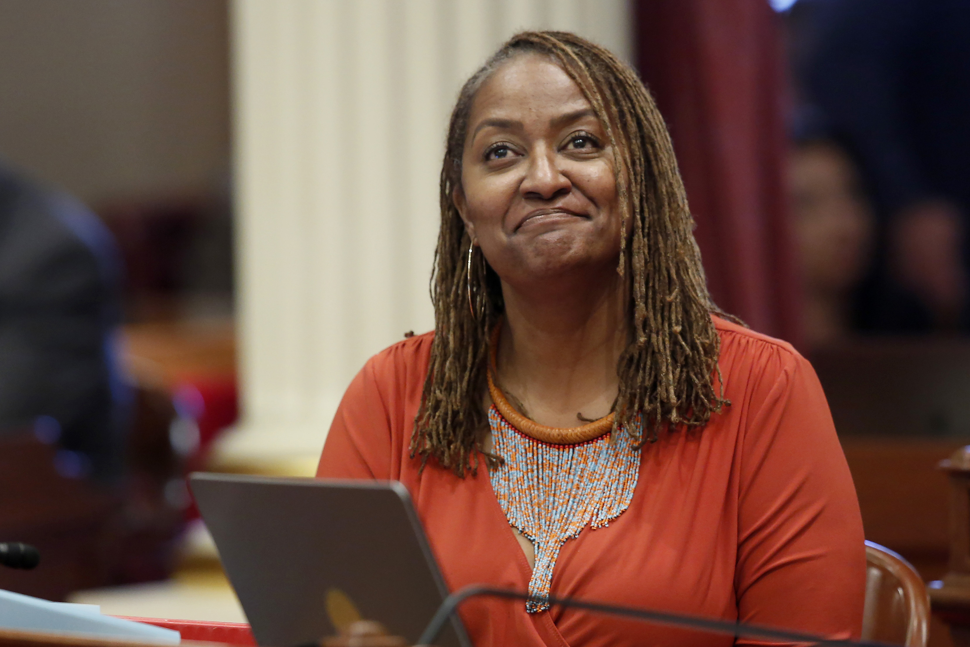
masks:
<svg viewBox="0 0 970 647"><path fill-rule="evenodd" d="M528 53L556 62L592 105L614 151L621 231L630 231L632 221L629 240L621 239L618 267L620 275L630 273L624 283L631 335L617 366L614 432L623 427L635 435L641 429L634 439L642 444L655 440L663 427L702 427L729 404L718 372L720 339L711 320L711 313L723 312L707 292L694 218L653 98L608 50L566 32L522 32L462 87L441 167L441 228L431 279L436 334L410 453L421 457L422 466L434 457L462 477L477 469L476 450L488 429L482 394L490 332L503 301L499 277L480 248L467 263L471 241L453 194L462 186L462 155L477 91L503 64ZM627 424L634 419L639 428Z"/></svg>

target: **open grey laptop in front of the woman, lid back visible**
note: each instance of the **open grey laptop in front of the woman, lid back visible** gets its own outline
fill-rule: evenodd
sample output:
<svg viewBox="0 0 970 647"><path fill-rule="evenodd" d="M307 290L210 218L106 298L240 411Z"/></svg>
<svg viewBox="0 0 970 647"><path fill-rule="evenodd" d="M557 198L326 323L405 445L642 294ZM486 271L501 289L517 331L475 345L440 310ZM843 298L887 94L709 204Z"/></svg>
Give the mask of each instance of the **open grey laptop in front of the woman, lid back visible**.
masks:
<svg viewBox="0 0 970 647"><path fill-rule="evenodd" d="M260 645L317 643L358 619L413 645L448 595L397 481L194 473L189 483ZM457 616L436 640L470 644Z"/></svg>

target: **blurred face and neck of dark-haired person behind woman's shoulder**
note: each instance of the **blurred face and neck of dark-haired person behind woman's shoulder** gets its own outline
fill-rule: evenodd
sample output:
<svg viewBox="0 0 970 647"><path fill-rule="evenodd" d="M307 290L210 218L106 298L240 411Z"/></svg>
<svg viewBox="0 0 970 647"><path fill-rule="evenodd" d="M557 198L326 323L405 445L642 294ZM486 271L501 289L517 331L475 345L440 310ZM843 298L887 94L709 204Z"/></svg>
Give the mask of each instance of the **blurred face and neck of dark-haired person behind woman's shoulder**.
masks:
<svg viewBox="0 0 970 647"><path fill-rule="evenodd" d="M804 281L805 340L816 348L852 335L854 299L871 262L875 223L856 165L823 136L796 141L789 187Z"/></svg>

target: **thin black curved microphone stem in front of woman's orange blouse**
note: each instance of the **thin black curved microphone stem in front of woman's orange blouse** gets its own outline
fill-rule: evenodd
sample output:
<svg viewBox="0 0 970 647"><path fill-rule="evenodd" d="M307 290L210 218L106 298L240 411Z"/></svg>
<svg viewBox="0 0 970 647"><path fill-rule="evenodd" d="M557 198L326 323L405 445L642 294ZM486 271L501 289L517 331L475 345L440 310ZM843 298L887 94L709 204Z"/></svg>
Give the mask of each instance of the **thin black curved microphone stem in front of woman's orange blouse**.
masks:
<svg viewBox="0 0 970 647"><path fill-rule="evenodd" d="M444 624L458 608L458 605L468 598L488 597L488 598L509 598L525 599L536 602L548 602L559 606L572 606L587 611L605 613L615 616L626 616L637 618L659 625L669 625L671 627L682 627L700 631L713 631L716 633L727 633L733 636L746 636L749 638L768 638L774 640L784 640L811 645L825 645L826 647L890 647L885 642L875 642L868 640L837 640L823 638L822 636L801 631L788 631L762 627L760 625L747 625L745 623L730 622L727 620L715 620L712 618L699 618L697 616L687 616L677 613L664 613L662 611L650 611L638 609L632 606L615 606L612 604L602 604L601 602L591 602L578 598L554 598L531 596L528 593L513 591L511 589L498 589L493 587L472 584L451 594L441 602L437 608L435 617L431 619L428 628L425 629L421 637L418 638L418 645L432 645L435 638Z"/></svg>

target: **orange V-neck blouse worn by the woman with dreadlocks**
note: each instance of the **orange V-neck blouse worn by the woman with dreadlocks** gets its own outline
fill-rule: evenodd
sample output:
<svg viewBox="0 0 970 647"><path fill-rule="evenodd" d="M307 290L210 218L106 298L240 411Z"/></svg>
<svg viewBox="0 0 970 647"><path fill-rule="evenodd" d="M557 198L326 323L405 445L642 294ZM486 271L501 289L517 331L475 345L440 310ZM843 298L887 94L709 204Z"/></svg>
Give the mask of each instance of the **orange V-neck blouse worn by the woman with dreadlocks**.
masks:
<svg viewBox="0 0 970 647"><path fill-rule="evenodd" d="M856 492L819 380L791 345L715 318L731 404L646 444L630 507L563 546L554 596L857 637L865 553ZM451 590L525 591L531 568L484 464L464 480L408 458L433 334L372 357L347 389L318 476L396 479ZM765 644L521 601L462 607L478 647Z"/></svg>

